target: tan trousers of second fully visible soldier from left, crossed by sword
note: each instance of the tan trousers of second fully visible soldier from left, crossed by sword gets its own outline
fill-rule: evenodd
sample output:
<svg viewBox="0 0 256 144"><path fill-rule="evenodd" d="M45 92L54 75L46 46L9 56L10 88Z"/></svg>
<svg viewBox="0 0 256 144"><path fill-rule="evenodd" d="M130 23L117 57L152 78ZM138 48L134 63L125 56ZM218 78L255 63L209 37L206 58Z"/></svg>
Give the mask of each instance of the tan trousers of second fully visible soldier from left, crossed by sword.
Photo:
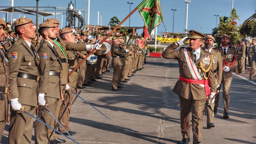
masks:
<svg viewBox="0 0 256 144"><path fill-rule="evenodd" d="M53 98L53 97L45 97L45 102L49 105L47 108L51 111L51 113L54 114L56 117L57 107L59 101L61 102L61 99ZM39 113L43 112L42 116L40 117L40 120L45 122L47 125L51 127L55 127L54 122L55 119L51 116L51 114L46 111L44 108L40 107ZM58 117L56 117L58 118ZM42 124L41 122L36 122L35 124L35 144L48 144L49 136L51 134L51 131L53 131L51 128L47 127L46 125ZM54 132L55 134L55 132ZM53 140L53 135L51 136L50 140Z"/></svg>

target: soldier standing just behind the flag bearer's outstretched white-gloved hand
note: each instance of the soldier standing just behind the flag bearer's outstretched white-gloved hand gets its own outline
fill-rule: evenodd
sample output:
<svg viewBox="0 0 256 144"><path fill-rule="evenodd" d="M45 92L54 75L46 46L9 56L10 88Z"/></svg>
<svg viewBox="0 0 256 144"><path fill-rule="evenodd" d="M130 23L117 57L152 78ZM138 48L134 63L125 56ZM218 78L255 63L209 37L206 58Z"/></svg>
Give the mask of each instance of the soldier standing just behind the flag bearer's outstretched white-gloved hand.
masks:
<svg viewBox="0 0 256 144"><path fill-rule="evenodd" d="M81 39L78 40L78 43L80 44L86 44L86 38L87 38L87 33L82 32L81 33ZM78 55L78 63L80 63L86 56L87 56L87 51L76 51L77 55ZM86 77L86 69L87 69L87 64L86 61L84 61L81 65L80 65L80 72L78 74L78 87L79 89L84 89L84 87L86 85L84 85L84 81L85 81L85 77ZM84 86L84 87L83 87ZM89 85L88 85L89 86Z"/></svg>

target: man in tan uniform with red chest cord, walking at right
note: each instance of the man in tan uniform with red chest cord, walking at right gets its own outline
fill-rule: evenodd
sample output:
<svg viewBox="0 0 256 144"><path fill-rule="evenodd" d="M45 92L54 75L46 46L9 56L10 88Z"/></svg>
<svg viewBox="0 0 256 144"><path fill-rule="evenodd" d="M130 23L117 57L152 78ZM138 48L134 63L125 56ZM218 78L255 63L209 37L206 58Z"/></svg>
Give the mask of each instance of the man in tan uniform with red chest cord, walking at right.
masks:
<svg viewBox="0 0 256 144"><path fill-rule="evenodd" d="M230 86L232 82L232 71L237 68L236 50L229 48L228 43L230 42L230 37L223 34L221 37L221 47L216 47L214 50L221 52L221 59L223 62L223 74L221 79L221 84L217 90L221 89L223 85L223 103L224 103L224 114L223 118L229 118L228 108L230 105ZM216 101L214 105L214 114L217 113L217 107L219 106L219 93L216 95Z"/></svg>

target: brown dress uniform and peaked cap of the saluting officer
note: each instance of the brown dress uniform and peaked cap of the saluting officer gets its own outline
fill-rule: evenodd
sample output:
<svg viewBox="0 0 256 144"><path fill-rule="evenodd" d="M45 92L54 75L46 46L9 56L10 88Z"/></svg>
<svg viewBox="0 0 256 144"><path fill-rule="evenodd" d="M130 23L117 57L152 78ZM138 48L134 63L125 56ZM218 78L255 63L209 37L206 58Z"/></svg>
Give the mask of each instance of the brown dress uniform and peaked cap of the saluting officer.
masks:
<svg viewBox="0 0 256 144"><path fill-rule="evenodd" d="M189 38L203 38L202 33L196 31L190 31L191 36ZM195 61L195 66L200 73L200 62L203 60L208 60L211 57L211 54L208 51L203 49L198 49L200 57L194 56L190 48L181 47L180 49L175 50L179 44L173 43L168 46L166 50L162 53L163 58L167 59L177 59L179 63L179 74L180 79L194 79L192 72L189 68L189 62L186 60L185 52L188 54L189 60ZM209 61L208 61L209 62ZM214 72L211 69L210 73L207 72L206 75L210 81L215 81ZM200 74L202 81L205 81L203 74ZM180 120L181 120L181 132L182 132L182 142L184 139L190 141L190 113L192 113L192 131L193 131L193 143L200 143L202 141L202 131L203 131L203 110L206 100L206 90L207 87L202 87L201 85L194 83L187 83L183 80L178 80L176 85L173 88L173 92L179 96L180 101ZM199 78L198 78L199 79ZM216 92L216 84L209 83L210 92ZM208 87L208 90L209 90Z"/></svg>

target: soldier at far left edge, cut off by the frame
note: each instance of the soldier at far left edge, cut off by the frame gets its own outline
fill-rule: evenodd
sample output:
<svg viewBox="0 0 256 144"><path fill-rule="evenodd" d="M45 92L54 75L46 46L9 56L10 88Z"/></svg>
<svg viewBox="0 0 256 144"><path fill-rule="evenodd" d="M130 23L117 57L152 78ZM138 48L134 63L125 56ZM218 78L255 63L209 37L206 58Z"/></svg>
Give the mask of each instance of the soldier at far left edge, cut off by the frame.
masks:
<svg viewBox="0 0 256 144"><path fill-rule="evenodd" d="M0 42L4 39L3 30L5 28L5 22L0 19ZM8 90L9 90L9 70L8 70L8 59L5 56L3 49L0 49L0 142L2 139L3 129L5 127L5 122L8 120L6 119L6 115L9 114L7 108L7 101L8 101Z"/></svg>

